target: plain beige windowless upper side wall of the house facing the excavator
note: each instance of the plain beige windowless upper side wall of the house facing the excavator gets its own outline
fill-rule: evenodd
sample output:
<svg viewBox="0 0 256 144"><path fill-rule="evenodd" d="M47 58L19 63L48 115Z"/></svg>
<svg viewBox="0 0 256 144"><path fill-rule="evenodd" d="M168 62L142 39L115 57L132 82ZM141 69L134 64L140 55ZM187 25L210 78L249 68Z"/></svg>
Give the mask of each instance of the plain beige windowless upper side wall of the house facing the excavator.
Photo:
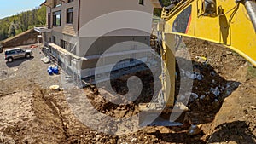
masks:
<svg viewBox="0 0 256 144"><path fill-rule="evenodd" d="M150 33L153 10L150 0L144 0L144 5L139 4L139 0L81 0L79 27L83 32L88 29L85 37L99 36L123 27L142 27ZM140 34L125 32L126 36ZM84 33L80 32L80 36L84 37ZM124 32L112 32L110 36L124 36Z"/></svg>

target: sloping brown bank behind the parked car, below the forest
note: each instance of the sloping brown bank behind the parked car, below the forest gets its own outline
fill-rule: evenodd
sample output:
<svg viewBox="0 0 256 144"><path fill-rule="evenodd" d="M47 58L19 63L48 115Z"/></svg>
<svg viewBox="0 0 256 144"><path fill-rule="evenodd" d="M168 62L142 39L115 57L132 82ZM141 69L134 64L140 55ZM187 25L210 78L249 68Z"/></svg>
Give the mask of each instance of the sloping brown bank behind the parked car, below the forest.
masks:
<svg viewBox="0 0 256 144"><path fill-rule="evenodd" d="M35 32L33 29L26 32L22 32L15 37L8 38L3 41L3 48L16 47L20 45L29 45L38 43L38 32Z"/></svg>

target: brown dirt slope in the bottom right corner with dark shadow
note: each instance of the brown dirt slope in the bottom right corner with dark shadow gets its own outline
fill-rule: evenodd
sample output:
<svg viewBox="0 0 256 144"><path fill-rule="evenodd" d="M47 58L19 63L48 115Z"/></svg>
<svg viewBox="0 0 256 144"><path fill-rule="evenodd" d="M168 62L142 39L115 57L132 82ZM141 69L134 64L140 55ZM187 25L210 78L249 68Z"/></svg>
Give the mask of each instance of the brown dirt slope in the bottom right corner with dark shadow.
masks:
<svg viewBox="0 0 256 144"><path fill-rule="evenodd" d="M224 101L208 136L209 143L256 143L256 78L248 80Z"/></svg>

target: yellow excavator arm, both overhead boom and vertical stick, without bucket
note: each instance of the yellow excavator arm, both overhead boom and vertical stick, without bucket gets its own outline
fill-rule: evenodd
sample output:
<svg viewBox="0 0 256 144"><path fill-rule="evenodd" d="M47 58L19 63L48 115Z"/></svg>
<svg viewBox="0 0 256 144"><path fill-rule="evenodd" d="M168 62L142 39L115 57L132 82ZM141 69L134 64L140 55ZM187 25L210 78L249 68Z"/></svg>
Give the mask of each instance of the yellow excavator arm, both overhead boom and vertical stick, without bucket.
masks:
<svg viewBox="0 0 256 144"><path fill-rule="evenodd" d="M206 2L213 3L213 10L207 12ZM252 1L255 3L254 1ZM184 9L191 9L189 14L189 21L184 27L186 31L177 32L175 26L177 17ZM162 19L166 20L163 29L159 30L164 35L182 35L187 37L195 37L207 40L213 43L219 43L227 48L234 50L239 55L256 66L256 30L253 28L252 20L247 14L247 9L242 2L228 1L228 0L183 0L178 3L172 10L166 13L166 9L162 10ZM162 37L165 37L162 36ZM173 49L174 36L169 36L163 41L163 48L169 47ZM166 50L164 50L166 51ZM172 59L173 53L165 52L163 60L168 72L175 71L175 63L165 59ZM166 73L168 73L166 72ZM165 101L167 106L174 104L174 84L175 76L171 74L170 82L166 84L163 82L163 90L168 91L165 94ZM170 87L170 85L172 85Z"/></svg>

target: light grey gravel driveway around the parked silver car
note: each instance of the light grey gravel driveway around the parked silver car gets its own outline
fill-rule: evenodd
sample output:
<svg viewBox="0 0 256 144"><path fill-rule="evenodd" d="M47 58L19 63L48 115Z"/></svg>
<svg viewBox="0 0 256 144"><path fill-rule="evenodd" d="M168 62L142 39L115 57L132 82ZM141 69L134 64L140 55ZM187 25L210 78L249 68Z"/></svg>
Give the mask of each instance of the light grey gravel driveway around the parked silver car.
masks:
<svg viewBox="0 0 256 144"><path fill-rule="evenodd" d="M21 49L30 49L28 46ZM33 55L30 59L19 59L9 63L4 60L4 52L0 54L0 81L13 84L35 83L43 88L52 84L61 85L61 74L50 76L47 68L51 64L44 64L40 59L44 57L41 49L32 49ZM19 81L19 83L18 83ZM3 85L5 86L5 85Z"/></svg>

